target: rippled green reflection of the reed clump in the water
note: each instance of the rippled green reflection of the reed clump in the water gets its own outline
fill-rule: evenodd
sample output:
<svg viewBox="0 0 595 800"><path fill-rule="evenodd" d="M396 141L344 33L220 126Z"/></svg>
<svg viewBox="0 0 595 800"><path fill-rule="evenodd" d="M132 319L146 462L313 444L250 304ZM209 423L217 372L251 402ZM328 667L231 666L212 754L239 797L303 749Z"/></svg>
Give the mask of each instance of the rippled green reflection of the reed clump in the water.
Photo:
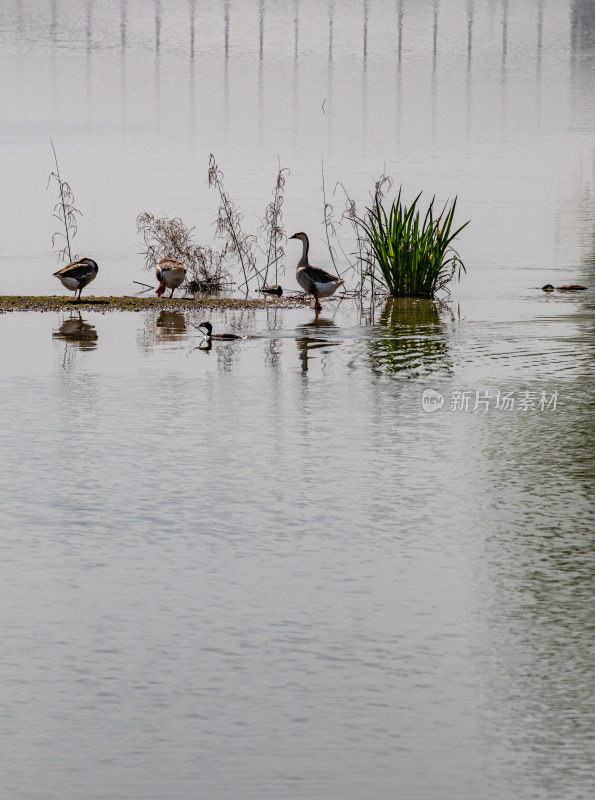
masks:
<svg viewBox="0 0 595 800"><path fill-rule="evenodd" d="M382 308L369 341L372 371L377 375L405 373L408 377L452 371L441 312L435 300L393 298Z"/></svg>

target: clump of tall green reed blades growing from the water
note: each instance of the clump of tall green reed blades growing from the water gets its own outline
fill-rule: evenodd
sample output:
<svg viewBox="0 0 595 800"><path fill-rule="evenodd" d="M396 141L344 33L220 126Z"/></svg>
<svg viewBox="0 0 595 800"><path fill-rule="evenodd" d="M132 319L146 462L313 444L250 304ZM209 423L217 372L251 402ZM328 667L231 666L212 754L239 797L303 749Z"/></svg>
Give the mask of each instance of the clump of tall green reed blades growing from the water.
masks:
<svg viewBox="0 0 595 800"><path fill-rule="evenodd" d="M457 198L445 203L438 216L434 214L434 199L422 220L417 195L407 208L401 201L401 190L388 213L379 197L372 208L366 209L357 224L363 230L367 254L363 260L373 274L385 284L393 297L434 297L447 289L455 273L460 278L465 265L451 242L469 224L465 222L453 231Z"/></svg>

